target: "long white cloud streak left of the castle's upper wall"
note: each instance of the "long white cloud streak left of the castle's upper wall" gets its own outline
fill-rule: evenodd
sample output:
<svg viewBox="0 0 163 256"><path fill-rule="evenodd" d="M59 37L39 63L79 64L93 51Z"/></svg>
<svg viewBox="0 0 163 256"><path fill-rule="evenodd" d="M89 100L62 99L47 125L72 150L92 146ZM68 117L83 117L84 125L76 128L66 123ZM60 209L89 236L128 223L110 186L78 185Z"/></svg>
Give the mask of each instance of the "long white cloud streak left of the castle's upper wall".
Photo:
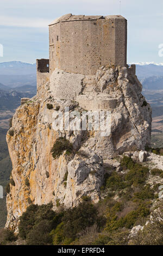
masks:
<svg viewBox="0 0 163 256"><path fill-rule="evenodd" d="M47 28L51 19L0 16L1 26Z"/></svg>

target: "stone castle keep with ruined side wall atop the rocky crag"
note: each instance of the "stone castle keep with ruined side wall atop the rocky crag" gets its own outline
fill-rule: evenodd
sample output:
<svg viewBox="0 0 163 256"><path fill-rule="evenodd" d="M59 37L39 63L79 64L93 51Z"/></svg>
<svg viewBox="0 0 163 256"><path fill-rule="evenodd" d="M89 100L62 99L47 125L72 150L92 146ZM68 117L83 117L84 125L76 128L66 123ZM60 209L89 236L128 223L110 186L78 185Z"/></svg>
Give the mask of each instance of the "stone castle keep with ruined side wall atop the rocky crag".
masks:
<svg viewBox="0 0 163 256"><path fill-rule="evenodd" d="M38 82L55 68L95 75L99 66L126 66L127 20L121 15L61 16L49 24L49 59L36 63Z"/></svg>

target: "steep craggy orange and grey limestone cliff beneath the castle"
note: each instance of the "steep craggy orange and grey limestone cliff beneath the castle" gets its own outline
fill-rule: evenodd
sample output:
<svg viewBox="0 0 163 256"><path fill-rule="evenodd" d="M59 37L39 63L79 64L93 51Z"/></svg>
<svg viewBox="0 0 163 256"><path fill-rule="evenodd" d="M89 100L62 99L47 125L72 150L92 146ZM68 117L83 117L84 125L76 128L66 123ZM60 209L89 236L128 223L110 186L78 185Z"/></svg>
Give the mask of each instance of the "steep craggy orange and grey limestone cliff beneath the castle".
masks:
<svg viewBox="0 0 163 256"><path fill-rule="evenodd" d="M83 196L98 202L104 162L126 151L144 150L151 141L151 107L132 67L102 66L96 76L54 70L50 79L43 81L37 95L18 107L12 132L7 133L15 181L7 195L6 227L10 229L17 228L18 218L32 203L52 201L57 209L58 204L73 207ZM65 107L79 113L110 111L111 134L54 130L54 113L63 113ZM59 137L73 144L73 154L65 150L54 159L51 149ZM115 162L115 167L120 164Z"/></svg>

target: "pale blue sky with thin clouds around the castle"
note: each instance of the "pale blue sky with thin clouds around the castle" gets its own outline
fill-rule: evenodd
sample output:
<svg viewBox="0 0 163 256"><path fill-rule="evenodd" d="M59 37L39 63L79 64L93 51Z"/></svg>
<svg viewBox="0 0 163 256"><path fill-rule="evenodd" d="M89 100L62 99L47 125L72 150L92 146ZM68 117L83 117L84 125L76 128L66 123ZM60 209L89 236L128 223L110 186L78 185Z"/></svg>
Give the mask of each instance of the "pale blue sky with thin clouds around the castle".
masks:
<svg viewBox="0 0 163 256"><path fill-rule="evenodd" d="M163 63L162 0L5 0L0 9L0 62L48 58L48 23L66 13L120 14L128 20L128 63Z"/></svg>

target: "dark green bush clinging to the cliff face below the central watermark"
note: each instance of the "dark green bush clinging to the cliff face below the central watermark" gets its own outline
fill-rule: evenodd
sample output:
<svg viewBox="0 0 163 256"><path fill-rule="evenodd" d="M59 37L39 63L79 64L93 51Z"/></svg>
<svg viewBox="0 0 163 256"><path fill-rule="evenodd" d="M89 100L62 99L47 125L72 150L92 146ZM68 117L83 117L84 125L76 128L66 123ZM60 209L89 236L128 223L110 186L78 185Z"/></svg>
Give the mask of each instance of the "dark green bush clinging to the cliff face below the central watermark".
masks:
<svg viewBox="0 0 163 256"><path fill-rule="evenodd" d="M52 156L54 159L57 159L63 151L68 150L72 153L73 145L66 138L58 138L51 150Z"/></svg>

